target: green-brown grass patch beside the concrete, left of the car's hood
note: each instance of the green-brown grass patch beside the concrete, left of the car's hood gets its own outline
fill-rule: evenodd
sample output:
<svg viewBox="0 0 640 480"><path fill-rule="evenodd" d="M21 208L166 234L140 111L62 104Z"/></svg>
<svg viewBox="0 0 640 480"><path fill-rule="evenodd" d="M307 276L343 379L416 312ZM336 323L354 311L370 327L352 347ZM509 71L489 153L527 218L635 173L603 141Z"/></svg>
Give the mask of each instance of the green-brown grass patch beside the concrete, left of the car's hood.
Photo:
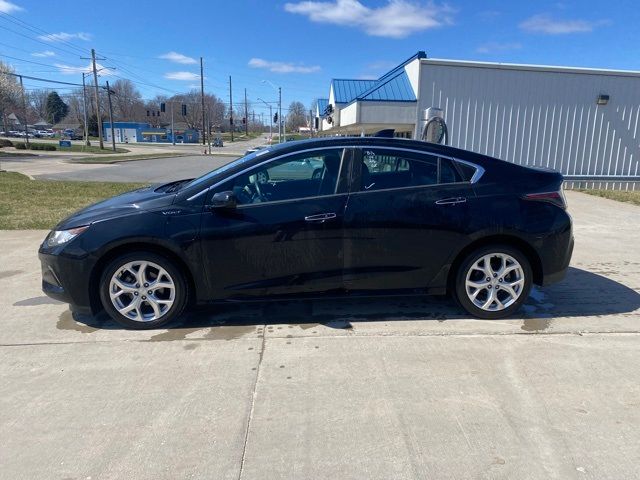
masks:
<svg viewBox="0 0 640 480"><path fill-rule="evenodd" d="M0 172L0 229L50 229L87 205L142 186L30 180L20 173Z"/></svg>

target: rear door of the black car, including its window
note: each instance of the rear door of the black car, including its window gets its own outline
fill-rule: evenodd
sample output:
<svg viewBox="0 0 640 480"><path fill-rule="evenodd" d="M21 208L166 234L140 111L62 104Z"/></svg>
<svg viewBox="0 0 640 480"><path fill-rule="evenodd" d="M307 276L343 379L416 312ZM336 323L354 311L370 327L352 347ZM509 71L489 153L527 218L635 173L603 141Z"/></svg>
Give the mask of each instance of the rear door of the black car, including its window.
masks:
<svg viewBox="0 0 640 480"><path fill-rule="evenodd" d="M354 152L345 212L345 287L423 290L444 285L466 243L473 187L451 159L393 148Z"/></svg>

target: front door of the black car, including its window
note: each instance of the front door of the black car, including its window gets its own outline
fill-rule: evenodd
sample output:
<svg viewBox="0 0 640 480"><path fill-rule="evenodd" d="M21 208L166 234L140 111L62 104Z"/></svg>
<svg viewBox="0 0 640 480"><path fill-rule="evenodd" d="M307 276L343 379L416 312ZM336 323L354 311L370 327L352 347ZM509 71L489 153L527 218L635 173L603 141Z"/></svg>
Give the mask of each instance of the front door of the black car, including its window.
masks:
<svg viewBox="0 0 640 480"><path fill-rule="evenodd" d="M202 216L212 298L320 293L341 288L350 151L325 148L270 160L208 193L236 208ZM206 202L209 203L209 202Z"/></svg>

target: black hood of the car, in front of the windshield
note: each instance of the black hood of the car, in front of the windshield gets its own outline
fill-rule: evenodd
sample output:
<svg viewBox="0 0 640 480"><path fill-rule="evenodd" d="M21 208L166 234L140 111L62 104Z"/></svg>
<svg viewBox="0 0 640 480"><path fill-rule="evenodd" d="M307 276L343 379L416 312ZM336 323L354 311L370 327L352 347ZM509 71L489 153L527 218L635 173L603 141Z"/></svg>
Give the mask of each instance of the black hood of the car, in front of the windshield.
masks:
<svg viewBox="0 0 640 480"><path fill-rule="evenodd" d="M78 210L56 225L55 230L90 225L125 215L136 215L145 211L154 211L169 206L175 199L175 193L167 192L166 185L152 185L132 192L108 198Z"/></svg>

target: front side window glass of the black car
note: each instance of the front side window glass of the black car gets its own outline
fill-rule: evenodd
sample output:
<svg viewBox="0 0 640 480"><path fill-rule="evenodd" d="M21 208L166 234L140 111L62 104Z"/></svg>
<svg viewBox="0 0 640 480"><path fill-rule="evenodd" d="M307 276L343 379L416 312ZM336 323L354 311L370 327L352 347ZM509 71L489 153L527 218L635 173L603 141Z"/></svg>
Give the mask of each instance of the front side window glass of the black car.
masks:
<svg viewBox="0 0 640 480"><path fill-rule="evenodd" d="M290 155L241 173L215 192L232 191L240 205L333 195L341 164L340 148Z"/></svg>

